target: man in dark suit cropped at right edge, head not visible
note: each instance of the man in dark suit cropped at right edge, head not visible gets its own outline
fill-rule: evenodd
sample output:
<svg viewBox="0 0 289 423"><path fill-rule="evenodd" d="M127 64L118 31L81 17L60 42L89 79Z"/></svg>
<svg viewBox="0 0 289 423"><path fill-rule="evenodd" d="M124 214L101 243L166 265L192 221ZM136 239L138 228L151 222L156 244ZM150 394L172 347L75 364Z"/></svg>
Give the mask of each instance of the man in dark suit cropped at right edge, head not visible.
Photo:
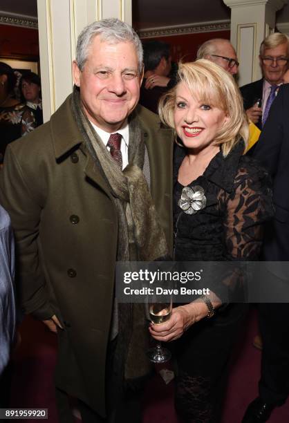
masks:
<svg viewBox="0 0 289 423"><path fill-rule="evenodd" d="M265 230L263 260L289 261L289 84L284 84L270 110L254 157L266 167L273 180L276 209ZM272 284L289 283L288 273L272 275ZM278 274L276 274L278 273ZM267 273L267 277L270 272ZM259 321L263 339L259 397L249 406L243 423L266 422L273 409L289 394L289 304L261 303Z"/></svg>

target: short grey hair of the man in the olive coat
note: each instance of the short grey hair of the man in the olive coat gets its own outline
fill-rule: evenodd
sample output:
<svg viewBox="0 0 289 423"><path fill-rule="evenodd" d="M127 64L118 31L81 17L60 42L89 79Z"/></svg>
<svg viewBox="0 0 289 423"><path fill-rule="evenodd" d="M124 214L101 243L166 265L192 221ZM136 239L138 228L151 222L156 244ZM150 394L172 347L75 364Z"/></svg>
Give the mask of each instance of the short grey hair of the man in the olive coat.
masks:
<svg viewBox="0 0 289 423"><path fill-rule="evenodd" d="M80 32L77 39L75 58L80 71L84 68L89 54L89 48L96 35L100 35L102 41L109 43L131 42L135 46L136 54L138 55L138 71L142 71L143 52L138 34L128 23L115 18L93 22Z"/></svg>

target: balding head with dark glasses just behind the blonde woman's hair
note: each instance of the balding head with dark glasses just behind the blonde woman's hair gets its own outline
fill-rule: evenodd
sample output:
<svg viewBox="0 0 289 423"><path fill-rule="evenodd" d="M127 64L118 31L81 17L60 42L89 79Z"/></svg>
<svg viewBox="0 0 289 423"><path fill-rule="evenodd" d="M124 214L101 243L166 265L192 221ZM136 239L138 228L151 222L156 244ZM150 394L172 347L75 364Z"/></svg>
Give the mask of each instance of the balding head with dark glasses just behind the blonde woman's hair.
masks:
<svg viewBox="0 0 289 423"><path fill-rule="evenodd" d="M208 59L236 75L238 73L238 61L236 51L229 40L214 38L205 41L198 49L197 59Z"/></svg>

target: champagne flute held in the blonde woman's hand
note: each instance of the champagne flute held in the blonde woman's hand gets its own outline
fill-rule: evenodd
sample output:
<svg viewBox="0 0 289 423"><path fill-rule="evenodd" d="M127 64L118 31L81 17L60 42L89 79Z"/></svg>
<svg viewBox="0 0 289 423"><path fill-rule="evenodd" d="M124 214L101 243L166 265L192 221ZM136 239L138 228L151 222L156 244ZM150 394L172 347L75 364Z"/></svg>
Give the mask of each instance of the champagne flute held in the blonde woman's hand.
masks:
<svg viewBox="0 0 289 423"><path fill-rule="evenodd" d="M154 325L164 323L171 317L171 295L169 295L168 298L165 299L165 301L167 302L162 303L156 298L156 301L147 303L149 319ZM171 352L167 348L163 348L160 341L158 341L155 347L150 348L147 351L147 357L149 357L149 361L151 361L152 363L165 363L166 361L169 361L169 359L171 359Z"/></svg>

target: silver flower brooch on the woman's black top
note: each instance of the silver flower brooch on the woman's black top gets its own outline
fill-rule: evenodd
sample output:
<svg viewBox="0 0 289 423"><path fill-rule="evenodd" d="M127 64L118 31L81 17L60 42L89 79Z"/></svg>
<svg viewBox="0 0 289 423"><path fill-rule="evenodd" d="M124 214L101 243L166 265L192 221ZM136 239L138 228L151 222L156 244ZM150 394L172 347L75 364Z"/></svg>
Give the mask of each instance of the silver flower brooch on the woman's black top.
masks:
<svg viewBox="0 0 289 423"><path fill-rule="evenodd" d="M183 188L180 200L178 200L179 207L187 214L196 214L199 210L204 209L206 204L205 191L199 185Z"/></svg>

